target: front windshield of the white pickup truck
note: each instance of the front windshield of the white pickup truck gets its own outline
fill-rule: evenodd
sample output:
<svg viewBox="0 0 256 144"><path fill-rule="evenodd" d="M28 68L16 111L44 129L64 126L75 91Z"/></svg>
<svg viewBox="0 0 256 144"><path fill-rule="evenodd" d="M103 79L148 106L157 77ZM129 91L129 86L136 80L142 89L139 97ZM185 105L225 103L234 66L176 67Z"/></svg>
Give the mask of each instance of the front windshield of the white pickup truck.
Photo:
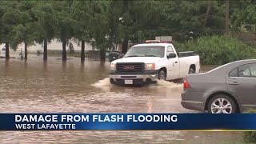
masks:
<svg viewBox="0 0 256 144"><path fill-rule="evenodd" d="M127 57L160 57L163 58L165 53L164 46L133 46L127 51Z"/></svg>

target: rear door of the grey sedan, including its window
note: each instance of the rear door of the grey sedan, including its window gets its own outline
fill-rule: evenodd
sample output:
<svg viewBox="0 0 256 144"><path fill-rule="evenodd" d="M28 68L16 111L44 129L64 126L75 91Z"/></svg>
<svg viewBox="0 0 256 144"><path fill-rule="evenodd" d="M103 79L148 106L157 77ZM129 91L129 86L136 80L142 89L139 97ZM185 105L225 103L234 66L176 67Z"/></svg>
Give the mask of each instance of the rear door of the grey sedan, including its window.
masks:
<svg viewBox="0 0 256 144"><path fill-rule="evenodd" d="M227 78L227 86L238 96L243 108L256 108L256 63L232 70Z"/></svg>

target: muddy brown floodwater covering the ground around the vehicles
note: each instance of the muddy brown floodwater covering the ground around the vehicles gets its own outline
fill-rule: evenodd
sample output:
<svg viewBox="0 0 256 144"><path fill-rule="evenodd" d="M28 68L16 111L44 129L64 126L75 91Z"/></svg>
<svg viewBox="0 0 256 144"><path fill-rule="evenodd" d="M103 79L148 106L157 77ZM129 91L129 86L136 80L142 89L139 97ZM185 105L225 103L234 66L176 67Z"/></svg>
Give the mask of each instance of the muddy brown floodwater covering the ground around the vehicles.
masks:
<svg viewBox="0 0 256 144"><path fill-rule="evenodd" d="M27 62L0 59L1 113L198 113L182 108L182 84L111 86L109 62L79 58L62 62L29 55ZM203 66L210 70L214 66ZM17 143L241 143L238 132L0 131L0 142Z"/></svg>

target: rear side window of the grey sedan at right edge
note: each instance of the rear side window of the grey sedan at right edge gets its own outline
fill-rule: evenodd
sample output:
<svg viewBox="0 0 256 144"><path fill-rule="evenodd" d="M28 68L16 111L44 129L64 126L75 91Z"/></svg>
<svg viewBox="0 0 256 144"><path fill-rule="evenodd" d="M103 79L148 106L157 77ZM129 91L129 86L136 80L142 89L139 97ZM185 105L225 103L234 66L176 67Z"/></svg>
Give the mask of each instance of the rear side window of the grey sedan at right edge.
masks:
<svg viewBox="0 0 256 144"><path fill-rule="evenodd" d="M239 66L230 71L230 77L256 78L256 63Z"/></svg>

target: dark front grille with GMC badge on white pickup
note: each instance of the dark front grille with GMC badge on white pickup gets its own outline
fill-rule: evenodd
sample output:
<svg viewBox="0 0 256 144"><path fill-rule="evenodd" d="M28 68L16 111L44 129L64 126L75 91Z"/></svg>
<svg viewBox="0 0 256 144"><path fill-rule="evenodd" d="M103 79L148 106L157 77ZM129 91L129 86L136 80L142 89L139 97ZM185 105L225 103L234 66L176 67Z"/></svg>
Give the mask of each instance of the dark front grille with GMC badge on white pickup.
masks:
<svg viewBox="0 0 256 144"><path fill-rule="evenodd" d="M117 71L121 73L138 73L144 70L144 63L117 63Z"/></svg>

